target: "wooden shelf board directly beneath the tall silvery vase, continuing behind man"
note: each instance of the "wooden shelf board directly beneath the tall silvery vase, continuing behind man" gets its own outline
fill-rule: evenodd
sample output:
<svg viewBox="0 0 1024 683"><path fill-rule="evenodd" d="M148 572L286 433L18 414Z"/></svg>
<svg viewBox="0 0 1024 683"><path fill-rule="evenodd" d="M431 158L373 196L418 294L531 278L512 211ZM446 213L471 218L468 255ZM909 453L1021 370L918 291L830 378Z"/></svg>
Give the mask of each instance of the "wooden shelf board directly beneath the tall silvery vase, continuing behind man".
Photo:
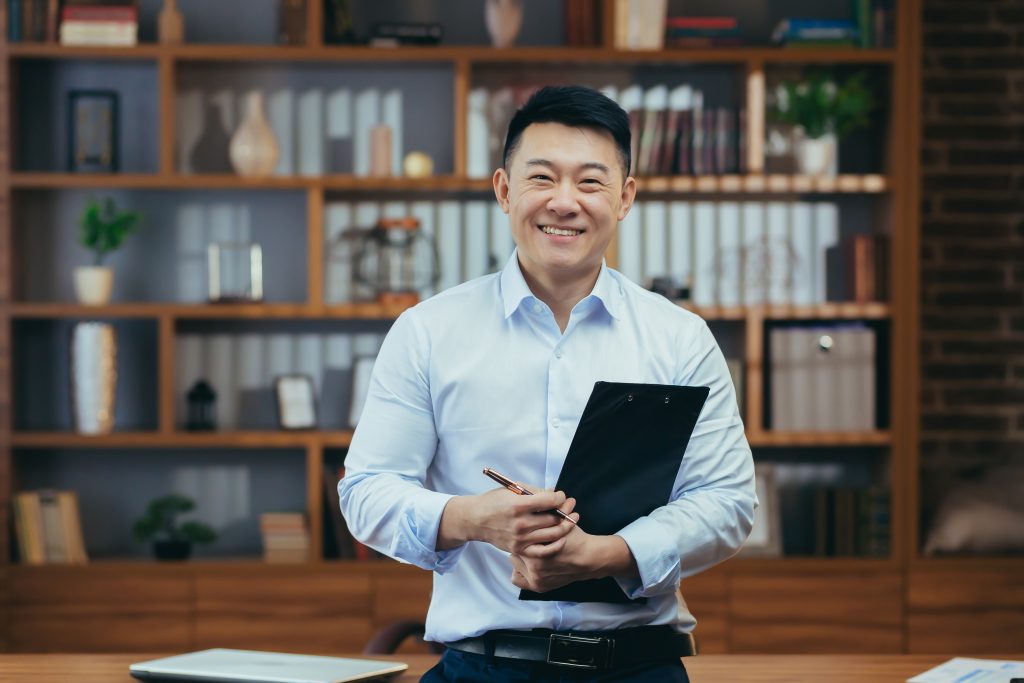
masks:
<svg viewBox="0 0 1024 683"><path fill-rule="evenodd" d="M329 447L346 446L350 431L225 431L225 432L114 432L87 435L75 432L14 432L11 445L23 449L92 447L276 447L305 446L319 443ZM887 445L888 431L879 432L758 432L750 433L752 446L809 445Z"/></svg>

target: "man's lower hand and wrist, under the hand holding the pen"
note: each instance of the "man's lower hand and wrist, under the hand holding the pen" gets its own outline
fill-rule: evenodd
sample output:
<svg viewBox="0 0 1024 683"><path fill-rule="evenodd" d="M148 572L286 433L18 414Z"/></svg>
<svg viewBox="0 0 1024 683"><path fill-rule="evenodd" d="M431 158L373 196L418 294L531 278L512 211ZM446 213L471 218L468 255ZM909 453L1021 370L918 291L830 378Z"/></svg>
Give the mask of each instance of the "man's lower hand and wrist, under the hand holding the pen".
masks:
<svg viewBox="0 0 1024 683"><path fill-rule="evenodd" d="M552 544L553 545L553 544ZM551 545L527 548L509 556L512 583L535 593L561 588L574 581L604 577L638 578L636 560L617 536L592 536L573 528L557 550Z"/></svg>

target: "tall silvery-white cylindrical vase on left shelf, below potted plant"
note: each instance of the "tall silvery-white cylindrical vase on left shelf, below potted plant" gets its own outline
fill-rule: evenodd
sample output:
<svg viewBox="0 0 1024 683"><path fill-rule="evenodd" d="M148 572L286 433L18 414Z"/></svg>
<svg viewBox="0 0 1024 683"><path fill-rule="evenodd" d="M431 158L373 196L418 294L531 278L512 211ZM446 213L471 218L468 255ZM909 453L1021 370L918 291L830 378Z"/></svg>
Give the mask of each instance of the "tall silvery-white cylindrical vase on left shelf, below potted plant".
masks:
<svg viewBox="0 0 1024 683"><path fill-rule="evenodd" d="M71 395L75 429L82 434L114 430L118 339L108 323L79 323L72 330Z"/></svg>

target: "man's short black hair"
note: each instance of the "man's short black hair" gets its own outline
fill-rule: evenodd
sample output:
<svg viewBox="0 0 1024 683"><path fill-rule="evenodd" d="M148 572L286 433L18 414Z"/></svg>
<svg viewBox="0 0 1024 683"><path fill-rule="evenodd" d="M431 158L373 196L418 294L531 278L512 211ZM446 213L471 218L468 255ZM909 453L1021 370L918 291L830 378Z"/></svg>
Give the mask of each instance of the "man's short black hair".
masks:
<svg viewBox="0 0 1024 683"><path fill-rule="evenodd" d="M596 128L611 134L623 166L623 178L630 174L630 118L613 99L582 85L541 88L515 113L505 136L502 165L508 167L522 131L534 123L560 123L572 128Z"/></svg>

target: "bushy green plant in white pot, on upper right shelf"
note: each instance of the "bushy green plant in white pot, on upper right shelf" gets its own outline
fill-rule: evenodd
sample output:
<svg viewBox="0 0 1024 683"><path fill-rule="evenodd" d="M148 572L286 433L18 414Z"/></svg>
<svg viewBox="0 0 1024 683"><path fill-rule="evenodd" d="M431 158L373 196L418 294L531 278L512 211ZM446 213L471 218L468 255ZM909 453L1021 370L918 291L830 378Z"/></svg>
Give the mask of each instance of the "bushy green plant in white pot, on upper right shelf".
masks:
<svg viewBox="0 0 1024 683"><path fill-rule="evenodd" d="M836 175L837 139L866 126L874 109L871 91L859 72L842 85L825 72L798 82L781 83L775 91L773 118L796 127L797 168L807 175Z"/></svg>

